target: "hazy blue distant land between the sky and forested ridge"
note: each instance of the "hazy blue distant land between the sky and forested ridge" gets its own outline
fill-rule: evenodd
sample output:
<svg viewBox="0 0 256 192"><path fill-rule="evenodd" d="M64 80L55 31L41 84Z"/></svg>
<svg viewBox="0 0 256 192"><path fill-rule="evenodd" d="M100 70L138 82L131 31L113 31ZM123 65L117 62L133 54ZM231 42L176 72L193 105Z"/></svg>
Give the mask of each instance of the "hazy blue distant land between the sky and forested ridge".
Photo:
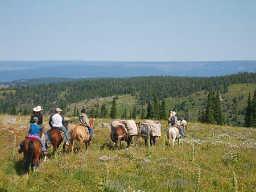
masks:
<svg viewBox="0 0 256 192"><path fill-rule="evenodd" d="M68 81L95 77L216 77L238 72L256 72L256 61L0 61L0 82L48 77Z"/></svg>

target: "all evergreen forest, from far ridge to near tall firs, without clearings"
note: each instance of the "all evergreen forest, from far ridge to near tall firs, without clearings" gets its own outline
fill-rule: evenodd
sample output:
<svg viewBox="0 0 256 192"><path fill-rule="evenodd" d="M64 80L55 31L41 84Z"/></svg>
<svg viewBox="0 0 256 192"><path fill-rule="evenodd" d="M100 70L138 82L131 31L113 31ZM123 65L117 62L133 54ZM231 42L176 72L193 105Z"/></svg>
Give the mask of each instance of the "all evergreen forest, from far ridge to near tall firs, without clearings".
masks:
<svg viewBox="0 0 256 192"><path fill-rule="evenodd" d="M221 77L174 77L174 76L150 76L150 77L130 77L130 78L90 78L81 79L80 81L60 82L59 84L46 85L18 85L15 87L3 88L0 90L0 113L2 114L30 114L31 108L35 106L43 106L44 114L50 114L56 107L61 107L65 111L71 110L70 106L73 103L81 101L89 101L90 99L99 99L114 96L111 108L106 109L105 103L102 106L90 108L91 116L110 117L110 118L151 118L164 119L168 115L168 110L184 111L184 119L189 120L189 114L185 101L175 103L172 108L166 106L167 100L188 98L189 95L203 91L208 94L208 98L201 99L199 108L197 108L198 121L205 123L229 124L229 119L233 120L235 126L241 126L243 119L236 119L236 115L246 115L245 106L239 108L236 103L243 99L244 96L233 98L230 107L234 108L233 116L226 117L220 113L204 114L204 109L210 110L225 110L222 106L220 95L228 93L231 85L253 85L256 84L256 73L241 72L228 76ZM254 91L254 89L253 89ZM253 92L252 92L253 93ZM127 106L120 114L116 114L116 100L118 96L130 94L137 100L136 105ZM247 97L248 93L246 93ZM253 95L252 95L253 96ZM193 99L191 99L193 100ZM200 99L199 99L200 100ZM210 102L212 101L212 102ZM189 105L193 105L193 101ZM217 103L212 107L211 103ZM250 104L250 103L249 103ZM127 104L128 105L128 104ZM254 104L255 105L255 104ZM104 109L102 111L102 108ZM130 110L128 110L130 108ZM229 108L229 107L228 107ZM77 110L77 111L76 111ZM95 111L94 111L95 110ZM97 110L100 110L97 111ZM151 112L150 112L151 110ZM163 112L164 111L164 112ZM209 111L209 110L208 110ZM109 112L109 114L108 114ZM157 114L152 116L152 112ZM79 113L75 109L73 115ZM102 115L104 113L104 115ZM194 112L195 114L195 112ZM214 119L215 116L215 119ZM254 112L251 116L255 116ZM210 119L210 120L206 120ZM193 120L195 121L195 119Z"/></svg>

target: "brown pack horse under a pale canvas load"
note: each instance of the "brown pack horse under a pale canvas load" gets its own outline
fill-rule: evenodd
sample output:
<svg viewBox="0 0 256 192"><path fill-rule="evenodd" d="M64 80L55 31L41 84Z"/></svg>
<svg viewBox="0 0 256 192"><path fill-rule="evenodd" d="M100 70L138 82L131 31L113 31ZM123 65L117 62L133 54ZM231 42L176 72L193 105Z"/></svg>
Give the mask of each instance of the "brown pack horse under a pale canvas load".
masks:
<svg viewBox="0 0 256 192"><path fill-rule="evenodd" d="M135 123L135 122L134 122ZM139 126L140 123L135 123L137 127L137 135L139 134ZM130 147L131 140L133 139L134 135L130 135L129 132L125 127L122 126L122 124L119 124L115 127L113 127L112 122L112 131L110 132L110 139L115 143L114 147L117 148L118 143L120 143L121 147L121 141L125 140L127 143L127 147Z"/></svg>

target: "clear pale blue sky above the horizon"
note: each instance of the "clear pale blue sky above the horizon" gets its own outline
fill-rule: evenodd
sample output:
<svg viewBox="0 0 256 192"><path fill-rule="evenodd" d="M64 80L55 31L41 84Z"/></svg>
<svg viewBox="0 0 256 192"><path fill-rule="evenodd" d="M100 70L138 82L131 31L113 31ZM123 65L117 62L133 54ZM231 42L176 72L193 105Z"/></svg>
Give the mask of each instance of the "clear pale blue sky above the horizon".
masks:
<svg viewBox="0 0 256 192"><path fill-rule="evenodd" d="M256 0L0 0L0 60L256 60Z"/></svg>

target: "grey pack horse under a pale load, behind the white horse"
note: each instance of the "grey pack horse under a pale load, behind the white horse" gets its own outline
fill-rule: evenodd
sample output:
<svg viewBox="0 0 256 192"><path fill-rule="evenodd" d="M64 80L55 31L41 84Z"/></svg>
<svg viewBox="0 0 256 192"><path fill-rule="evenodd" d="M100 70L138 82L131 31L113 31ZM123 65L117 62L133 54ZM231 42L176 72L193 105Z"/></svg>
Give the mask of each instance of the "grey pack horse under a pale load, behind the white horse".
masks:
<svg viewBox="0 0 256 192"><path fill-rule="evenodd" d="M147 121L150 122L149 120ZM159 122L157 122L156 124L159 125L159 128L161 127L161 124ZM139 134L137 135L137 139L135 141L136 147L138 147L139 137L142 137L144 139L144 144L147 145L148 135L150 136L150 146L152 146L152 143L154 143L155 145L156 138L158 138L159 135L153 135L152 127L150 126L150 124L142 123L141 126L139 127Z"/></svg>

